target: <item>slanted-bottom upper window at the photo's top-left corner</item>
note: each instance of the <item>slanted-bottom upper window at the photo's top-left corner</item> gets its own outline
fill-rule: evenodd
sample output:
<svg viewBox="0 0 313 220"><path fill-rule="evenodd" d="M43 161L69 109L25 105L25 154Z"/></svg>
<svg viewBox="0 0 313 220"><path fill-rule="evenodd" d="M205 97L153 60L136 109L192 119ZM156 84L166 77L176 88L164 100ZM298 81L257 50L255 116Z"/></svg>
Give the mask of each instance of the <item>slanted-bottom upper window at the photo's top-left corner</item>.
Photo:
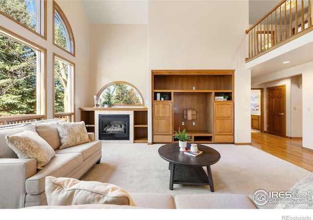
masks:
<svg viewBox="0 0 313 220"><path fill-rule="evenodd" d="M0 0L0 13L45 36L45 1Z"/></svg>

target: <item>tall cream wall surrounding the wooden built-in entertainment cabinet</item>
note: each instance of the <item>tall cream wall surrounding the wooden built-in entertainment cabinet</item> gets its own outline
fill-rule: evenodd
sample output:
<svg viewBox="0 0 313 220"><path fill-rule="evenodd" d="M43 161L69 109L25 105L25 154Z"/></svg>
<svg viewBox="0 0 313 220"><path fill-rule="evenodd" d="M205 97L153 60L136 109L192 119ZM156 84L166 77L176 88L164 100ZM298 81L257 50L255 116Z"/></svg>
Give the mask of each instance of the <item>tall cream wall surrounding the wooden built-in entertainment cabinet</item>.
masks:
<svg viewBox="0 0 313 220"><path fill-rule="evenodd" d="M248 1L149 1L148 13L149 97L153 69L235 69L235 142L250 143ZM151 112L149 124L152 140Z"/></svg>

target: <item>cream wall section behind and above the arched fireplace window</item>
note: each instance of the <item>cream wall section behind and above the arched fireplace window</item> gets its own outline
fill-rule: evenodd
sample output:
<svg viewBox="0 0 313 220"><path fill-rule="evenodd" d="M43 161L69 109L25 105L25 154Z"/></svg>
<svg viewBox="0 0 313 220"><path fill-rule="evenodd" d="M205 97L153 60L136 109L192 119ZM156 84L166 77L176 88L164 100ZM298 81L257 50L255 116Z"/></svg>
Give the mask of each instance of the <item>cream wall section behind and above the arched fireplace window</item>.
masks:
<svg viewBox="0 0 313 220"><path fill-rule="evenodd" d="M90 90L93 95L114 81L132 84L148 99L147 24L90 24Z"/></svg>

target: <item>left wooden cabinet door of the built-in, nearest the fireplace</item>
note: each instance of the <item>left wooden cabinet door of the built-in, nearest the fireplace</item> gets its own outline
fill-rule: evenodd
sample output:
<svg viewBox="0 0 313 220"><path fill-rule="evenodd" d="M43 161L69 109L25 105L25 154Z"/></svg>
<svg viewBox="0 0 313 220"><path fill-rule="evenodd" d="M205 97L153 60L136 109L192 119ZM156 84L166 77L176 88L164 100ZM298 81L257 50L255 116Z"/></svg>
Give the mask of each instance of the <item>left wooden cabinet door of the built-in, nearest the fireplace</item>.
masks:
<svg viewBox="0 0 313 220"><path fill-rule="evenodd" d="M172 128L172 102L155 102L154 104L154 134L171 134Z"/></svg>

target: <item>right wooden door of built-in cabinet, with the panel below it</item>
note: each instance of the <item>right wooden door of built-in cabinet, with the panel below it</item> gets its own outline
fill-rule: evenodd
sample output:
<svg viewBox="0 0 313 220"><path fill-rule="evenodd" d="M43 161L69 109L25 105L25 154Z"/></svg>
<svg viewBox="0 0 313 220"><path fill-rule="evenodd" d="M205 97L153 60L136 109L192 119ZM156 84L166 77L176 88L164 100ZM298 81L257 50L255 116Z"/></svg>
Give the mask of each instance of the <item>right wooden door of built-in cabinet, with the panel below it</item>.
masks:
<svg viewBox="0 0 313 220"><path fill-rule="evenodd" d="M215 118L215 141L233 142L234 135L234 108L232 102L216 102L214 111Z"/></svg>

